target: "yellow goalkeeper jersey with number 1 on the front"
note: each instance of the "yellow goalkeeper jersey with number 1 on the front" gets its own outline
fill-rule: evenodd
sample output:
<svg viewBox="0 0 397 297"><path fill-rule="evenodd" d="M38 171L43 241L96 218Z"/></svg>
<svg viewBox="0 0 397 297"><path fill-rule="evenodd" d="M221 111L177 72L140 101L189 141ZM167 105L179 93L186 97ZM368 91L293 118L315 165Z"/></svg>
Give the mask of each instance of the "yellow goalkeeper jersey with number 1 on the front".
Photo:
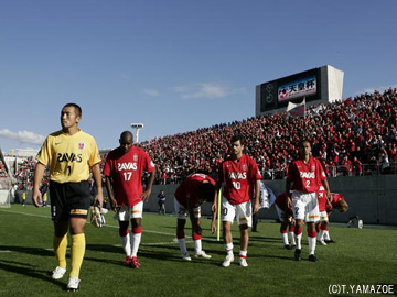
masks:
<svg viewBox="0 0 397 297"><path fill-rule="evenodd" d="M100 162L95 139L79 130L74 135L62 130L50 134L37 156L50 166L50 179L56 183L78 183L89 178L89 167Z"/></svg>

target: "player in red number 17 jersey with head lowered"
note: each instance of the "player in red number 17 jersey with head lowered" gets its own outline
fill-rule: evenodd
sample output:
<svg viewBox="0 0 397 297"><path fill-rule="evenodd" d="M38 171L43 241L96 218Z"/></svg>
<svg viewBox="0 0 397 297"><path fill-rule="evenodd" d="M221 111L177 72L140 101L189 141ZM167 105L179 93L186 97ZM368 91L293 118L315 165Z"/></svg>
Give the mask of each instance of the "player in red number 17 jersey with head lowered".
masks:
<svg viewBox="0 0 397 297"><path fill-rule="evenodd" d="M132 145L133 136L130 131L121 133L119 143L120 146L112 150L106 158L104 175L111 207L117 211L115 218L119 221L119 235L126 252L122 263L139 268L137 253L142 233L143 200L149 199L155 165L143 150ZM149 173L144 190L141 183L143 170ZM132 224L131 241L129 220Z"/></svg>

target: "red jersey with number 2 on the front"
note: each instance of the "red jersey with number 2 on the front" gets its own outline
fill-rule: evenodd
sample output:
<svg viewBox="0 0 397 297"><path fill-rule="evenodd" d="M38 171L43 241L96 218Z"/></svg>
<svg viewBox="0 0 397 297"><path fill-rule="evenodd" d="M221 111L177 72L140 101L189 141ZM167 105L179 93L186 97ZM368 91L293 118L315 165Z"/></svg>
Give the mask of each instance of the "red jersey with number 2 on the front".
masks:
<svg viewBox="0 0 397 297"><path fill-rule="evenodd" d="M318 191L322 180L326 178L321 163L315 157L310 156L309 162L293 160L288 169L288 182L292 182L292 190L313 193Z"/></svg>

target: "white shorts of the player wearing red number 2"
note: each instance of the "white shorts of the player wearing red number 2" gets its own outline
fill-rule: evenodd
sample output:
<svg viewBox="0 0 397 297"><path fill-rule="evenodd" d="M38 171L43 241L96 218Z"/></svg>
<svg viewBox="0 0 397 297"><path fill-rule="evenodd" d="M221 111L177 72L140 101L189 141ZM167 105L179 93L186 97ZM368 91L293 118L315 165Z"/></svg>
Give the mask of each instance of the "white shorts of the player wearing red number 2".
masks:
<svg viewBox="0 0 397 297"><path fill-rule="evenodd" d="M296 220L316 222L320 220L316 193L292 191L292 212Z"/></svg>

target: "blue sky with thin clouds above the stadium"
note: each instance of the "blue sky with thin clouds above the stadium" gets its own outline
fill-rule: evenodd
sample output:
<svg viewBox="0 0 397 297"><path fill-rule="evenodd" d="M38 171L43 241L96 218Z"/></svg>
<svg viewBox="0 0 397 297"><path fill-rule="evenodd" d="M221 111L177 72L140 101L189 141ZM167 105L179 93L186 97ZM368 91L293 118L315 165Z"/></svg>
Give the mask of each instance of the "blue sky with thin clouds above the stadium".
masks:
<svg viewBox="0 0 397 297"><path fill-rule="evenodd" d="M255 116L255 86L332 65L343 97L397 86L395 0L0 0L0 147L39 148L66 102L112 148Z"/></svg>

